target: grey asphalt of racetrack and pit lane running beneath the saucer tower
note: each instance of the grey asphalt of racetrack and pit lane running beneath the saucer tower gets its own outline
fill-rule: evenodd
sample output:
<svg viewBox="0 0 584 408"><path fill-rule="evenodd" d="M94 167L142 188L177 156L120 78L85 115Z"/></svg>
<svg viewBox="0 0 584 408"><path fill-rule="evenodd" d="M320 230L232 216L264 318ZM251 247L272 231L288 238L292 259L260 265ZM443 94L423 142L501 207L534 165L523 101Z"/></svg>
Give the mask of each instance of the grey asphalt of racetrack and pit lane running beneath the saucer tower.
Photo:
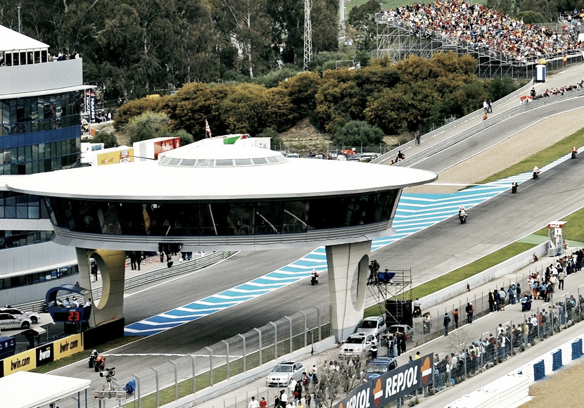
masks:
<svg viewBox="0 0 584 408"><path fill-rule="evenodd" d="M581 106L584 106L584 98L576 98L537 109L532 111L532 115L514 117L419 162L415 167L440 172L542 117ZM542 174L540 179L521 184L519 193L514 196L510 192L503 193L477 205L469 213L469 221L465 225L460 225L456 219L447 219L377 250L372 256L382 267L411 267L414 284L450 272L581 208L584 205L584 189L578 186L584 183L583 167L584 160L581 158L568 160ZM196 273L136 288L126 294L126 324L249 281L302 257L312 249L239 253ZM132 373L172 358L160 354L195 352L205 345L212 345L237 333L246 333L286 314L312 306L325 310L328 305L329 288L326 274L322 274L318 286L310 286L308 280L301 281L262 296L258 301L244 302L126 345L115 350L115 354L125 356L110 357L107 365L115 366L118 379L125 382ZM87 369L84 361L59 369L55 374L90 378L94 380L92 387L103 383L103 379L96 378L96 374Z"/></svg>

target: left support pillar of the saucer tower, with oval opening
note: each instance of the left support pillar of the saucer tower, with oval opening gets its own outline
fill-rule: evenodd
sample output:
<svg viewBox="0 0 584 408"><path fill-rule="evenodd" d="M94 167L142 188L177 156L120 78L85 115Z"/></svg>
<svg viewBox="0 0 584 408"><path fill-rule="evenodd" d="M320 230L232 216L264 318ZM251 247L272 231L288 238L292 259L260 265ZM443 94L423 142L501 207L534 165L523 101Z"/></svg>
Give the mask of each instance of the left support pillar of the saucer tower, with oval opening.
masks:
<svg viewBox="0 0 584 408"><path fill-rule="evenodd" d="M79 264L80 285L91 290L89 326L99 326L124 318L124 282L126 251L75 248ZM101 274L101 296L95 302L89 258L94 258ZM84 299L87 300L87 299Z"/></svg>

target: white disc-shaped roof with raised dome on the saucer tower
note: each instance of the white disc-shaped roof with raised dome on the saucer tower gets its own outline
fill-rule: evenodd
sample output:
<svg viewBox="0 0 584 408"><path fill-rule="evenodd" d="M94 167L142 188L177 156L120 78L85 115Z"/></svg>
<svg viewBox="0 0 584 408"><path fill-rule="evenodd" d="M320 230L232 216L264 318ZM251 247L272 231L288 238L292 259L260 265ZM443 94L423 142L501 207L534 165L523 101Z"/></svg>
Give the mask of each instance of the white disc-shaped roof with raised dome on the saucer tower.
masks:
<svg viewBox="0 0 584 408"><path fill-rule="evenodd" d="M193 165L195 159L277 155L284 160L263 165L236 165L235 160L234 165L221 167ZM65 198L234 200L363 193L425 184L438 178L436 173L407 167L341 160L286 160L278 152L248 146L188 145L165 153L165 158L160 163L148 160L29 174L7 179L6 184L20 193ZM172 158L190 160L190 165L161 165Z"/></svg>

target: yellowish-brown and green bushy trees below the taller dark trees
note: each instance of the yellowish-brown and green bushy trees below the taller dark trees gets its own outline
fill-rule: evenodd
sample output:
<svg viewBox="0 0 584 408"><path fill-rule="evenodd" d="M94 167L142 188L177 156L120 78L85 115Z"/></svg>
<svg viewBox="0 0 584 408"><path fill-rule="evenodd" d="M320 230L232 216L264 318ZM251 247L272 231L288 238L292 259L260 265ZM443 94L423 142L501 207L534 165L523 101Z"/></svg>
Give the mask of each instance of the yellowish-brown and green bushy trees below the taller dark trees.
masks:
<svg viewBox="0 0 584 408"><path fill-rule="evenodd" d="M183 129L195 140L205 137L205 120L213 134L284 132L305 117L333 135L355 134L354 122L383 134L426 130L446 116L466 115L485 99L494 101L516 89L512 79L478 79L475 66L470 56L446 53L429 60L412 56L395 65L382 59L356 70L303 72L275 87L193 82L173 96L125 103L118 108L115 127L155 112L167 115L169 129ZM379 138L379 132L367 132Z"/></svg>

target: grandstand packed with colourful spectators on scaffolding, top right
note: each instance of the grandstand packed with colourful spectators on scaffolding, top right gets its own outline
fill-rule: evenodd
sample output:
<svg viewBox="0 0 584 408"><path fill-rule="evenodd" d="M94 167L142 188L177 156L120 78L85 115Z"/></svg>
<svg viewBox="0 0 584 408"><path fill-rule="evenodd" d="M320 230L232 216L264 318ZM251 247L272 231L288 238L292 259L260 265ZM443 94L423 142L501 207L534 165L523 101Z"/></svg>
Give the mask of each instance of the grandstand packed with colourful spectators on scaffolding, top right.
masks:
<svg viewBox="0 0 584 408"><path fill-rule="evenodd" d="M480 7L480 9L478 8ZM375 15L376 58L393 63L452 51L477 61L478 77L531 78L545 59L547 71L583 61L579 27L559 25L557 30L525 25L483 6L464 3L413 4L382 10ZM565 61L564 61L565 58Z"/></svg>

